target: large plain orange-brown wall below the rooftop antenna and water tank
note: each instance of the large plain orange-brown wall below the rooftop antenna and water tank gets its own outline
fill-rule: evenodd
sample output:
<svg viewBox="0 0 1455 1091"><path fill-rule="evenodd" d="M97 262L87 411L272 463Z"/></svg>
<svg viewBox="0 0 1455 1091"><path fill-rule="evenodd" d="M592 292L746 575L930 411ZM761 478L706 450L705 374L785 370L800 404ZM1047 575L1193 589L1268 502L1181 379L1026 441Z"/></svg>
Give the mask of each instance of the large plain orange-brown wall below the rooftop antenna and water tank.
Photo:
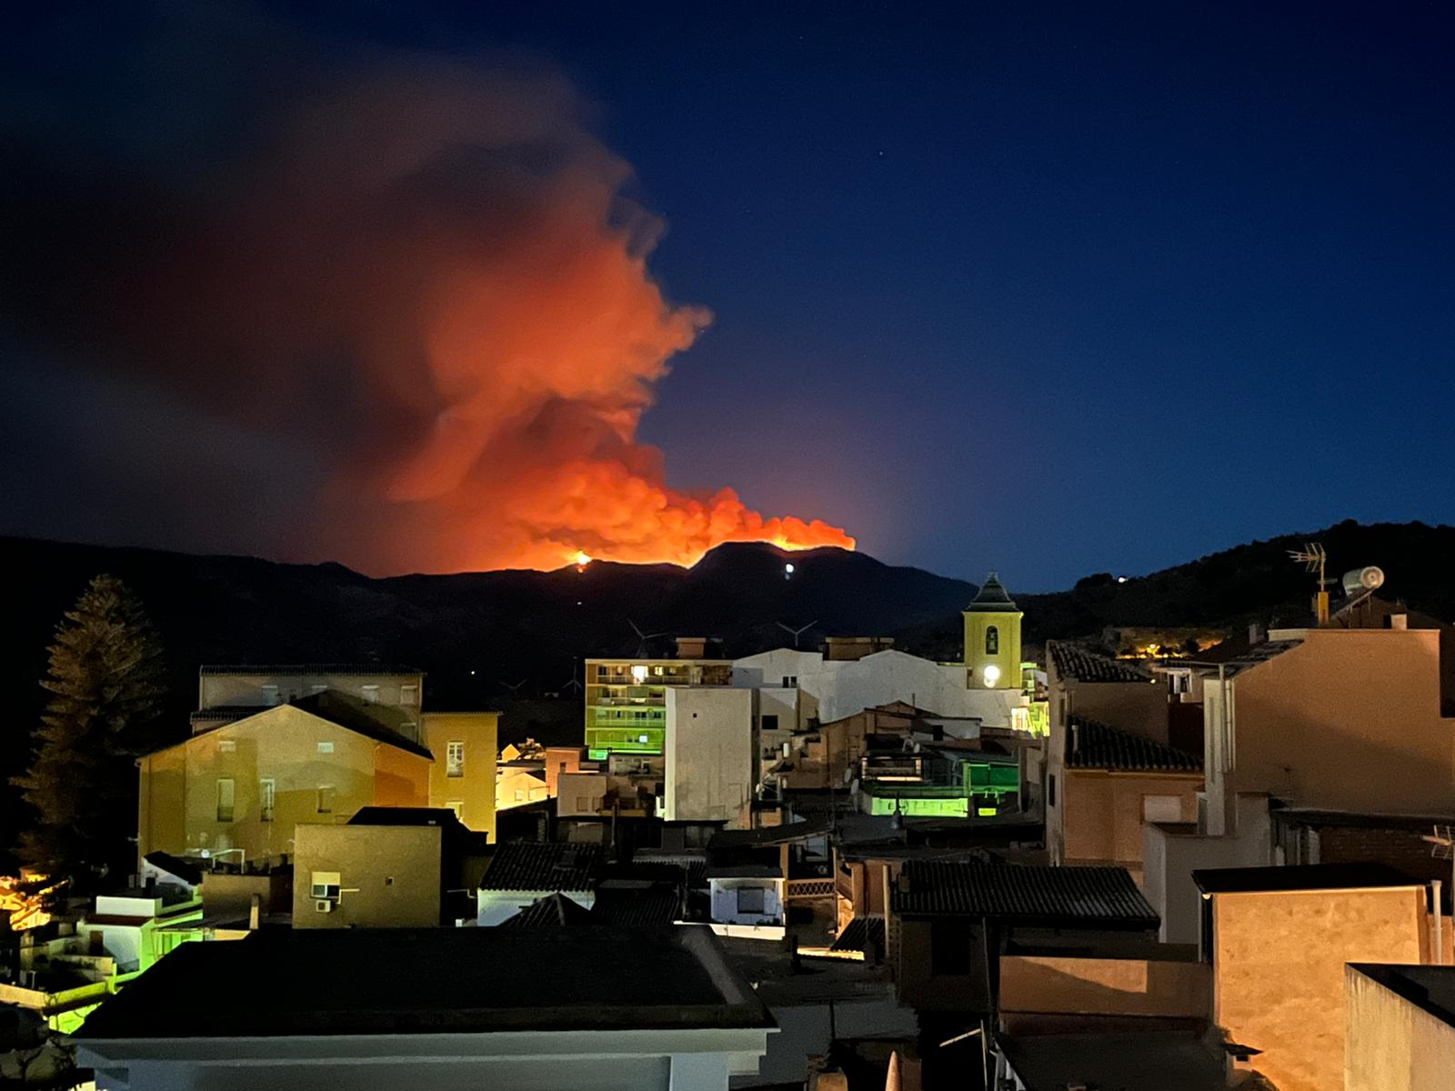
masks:
<svg viewBox="0 0 1455 1091"><path fill-rule="evenodd" d="M1232 748L1222 738L1218 681L1203 691L1211 807L1229 793L1267 791L1295 806L1449 809L1455 720L1439 714L1439 633L1314 630L1229 688ZM1221 816L1209 818L1221 834Z"/></svg>

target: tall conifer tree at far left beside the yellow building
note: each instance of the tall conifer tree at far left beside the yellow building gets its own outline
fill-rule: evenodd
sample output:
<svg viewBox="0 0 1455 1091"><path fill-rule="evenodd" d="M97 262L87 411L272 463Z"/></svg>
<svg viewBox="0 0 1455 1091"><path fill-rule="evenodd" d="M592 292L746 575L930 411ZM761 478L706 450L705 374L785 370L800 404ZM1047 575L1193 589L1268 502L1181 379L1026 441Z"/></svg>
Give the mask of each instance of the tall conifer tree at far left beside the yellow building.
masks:
<svg viewBox="0 0 1455 1091"><path fill-rule="evenodd" d="M49 656L41 685L51 700L33 735L35 756L13 781L39 816L17 851L86 890L131 864L134 758L159 742L166 666L141 602L105 575L65 614Z"/></svg>

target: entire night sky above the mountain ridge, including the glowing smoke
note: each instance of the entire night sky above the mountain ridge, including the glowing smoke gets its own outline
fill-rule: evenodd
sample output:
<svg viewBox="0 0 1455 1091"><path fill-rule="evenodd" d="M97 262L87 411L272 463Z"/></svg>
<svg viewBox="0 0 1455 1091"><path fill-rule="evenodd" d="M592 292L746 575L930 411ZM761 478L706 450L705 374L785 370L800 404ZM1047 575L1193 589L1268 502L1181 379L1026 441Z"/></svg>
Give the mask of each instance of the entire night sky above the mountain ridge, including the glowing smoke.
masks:
<svg viewBox="0 0 1455 1091"><path fill-rule="evenodd" d="M0 45L0 531L371 572L649 559L639 508L538 502L605 474L666 496L674 551L761 511L1030 591L1455 516L1448 4L102 10ZM355 193L371 151L274 122L410 132L419 73L530 132L447 127L386 202ZM512 271L602 230L582 298L645 316L611 327L620 380L498 419L505 356L390 371L441 298L486 356L522 307L556 336L582 308ZM406 297L423 317L378 317ZM725 486L746 515L691 499Z"/></svg>

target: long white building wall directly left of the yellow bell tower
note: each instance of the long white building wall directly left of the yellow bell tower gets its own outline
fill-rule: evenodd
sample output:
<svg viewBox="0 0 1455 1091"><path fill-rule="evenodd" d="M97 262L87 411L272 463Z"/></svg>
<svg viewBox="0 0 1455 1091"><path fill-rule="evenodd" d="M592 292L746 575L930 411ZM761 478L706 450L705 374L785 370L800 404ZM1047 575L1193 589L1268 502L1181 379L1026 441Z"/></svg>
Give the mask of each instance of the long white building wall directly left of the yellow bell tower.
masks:
<svg viewBox="0 0 1455 1091"><path fill-rule="evenodd" d="M780 647L735 660L732 674L733 685L746 688L781 687L784 678L796 678L805 706L818 706L822 723L890 701L912 701L940 716L972 716L986 727L1010 727L1010 710L1024 704L1020 690L970 690L963 666L898 650L838 660Z"/></svg>

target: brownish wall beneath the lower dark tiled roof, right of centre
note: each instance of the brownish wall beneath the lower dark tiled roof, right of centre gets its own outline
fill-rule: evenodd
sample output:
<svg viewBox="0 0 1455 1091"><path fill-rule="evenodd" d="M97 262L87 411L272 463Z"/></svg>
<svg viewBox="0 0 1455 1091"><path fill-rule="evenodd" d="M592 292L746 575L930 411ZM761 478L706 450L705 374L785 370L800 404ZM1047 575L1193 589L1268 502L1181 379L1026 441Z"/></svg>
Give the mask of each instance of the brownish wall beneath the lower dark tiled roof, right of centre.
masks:
<svg viewBox="0 0 1455 1091"><path fill-rule="evenodd" d="M1181 806L1176 820L1196 822L1200 787L1200 772L1064 770L1055 807L1058 860L1064 864L1120 864L1139 877L1147 797L1176 796Z"/></svg>

